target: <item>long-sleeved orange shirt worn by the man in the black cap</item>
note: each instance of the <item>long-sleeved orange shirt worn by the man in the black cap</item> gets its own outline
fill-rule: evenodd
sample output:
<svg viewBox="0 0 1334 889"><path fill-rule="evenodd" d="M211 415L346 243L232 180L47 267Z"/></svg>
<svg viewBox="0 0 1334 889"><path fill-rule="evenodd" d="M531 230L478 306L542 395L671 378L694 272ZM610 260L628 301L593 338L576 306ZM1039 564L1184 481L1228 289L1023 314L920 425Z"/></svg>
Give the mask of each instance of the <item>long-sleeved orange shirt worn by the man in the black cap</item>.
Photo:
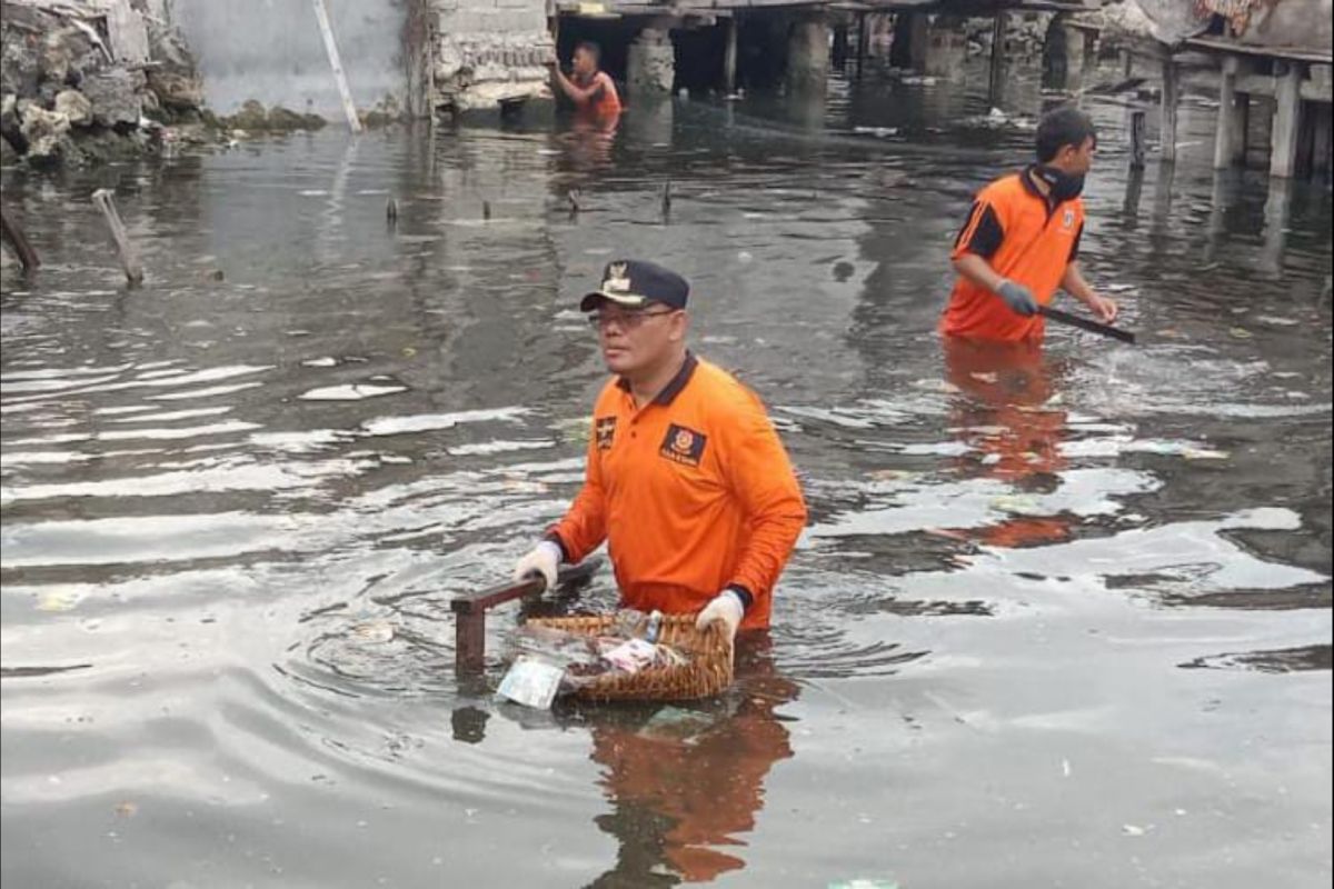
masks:
<svg viewBox="0 0 1334 889"><path fill-rule="evenodd" d="M607 540L622 600L694 612L730 585L743 629L768 626L778 574L806 525L796 476L754 392L687 356L636 409L610 381L594 408L584 486L550 537L568 561Z"/></svg>

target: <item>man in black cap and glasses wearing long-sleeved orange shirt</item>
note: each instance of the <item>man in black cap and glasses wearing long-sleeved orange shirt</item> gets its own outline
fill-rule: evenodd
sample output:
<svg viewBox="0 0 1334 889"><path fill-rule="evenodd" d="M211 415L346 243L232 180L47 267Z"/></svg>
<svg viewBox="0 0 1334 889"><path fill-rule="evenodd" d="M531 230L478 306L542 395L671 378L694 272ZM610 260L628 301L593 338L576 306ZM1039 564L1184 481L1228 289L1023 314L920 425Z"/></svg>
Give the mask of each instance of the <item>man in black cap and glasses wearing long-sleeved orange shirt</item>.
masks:
<svg viewBox="0 0 1334 889"><path fill-rule="evenodd" d="M603 540L624 605L768 626L806 525L792 465L754 392L686 348L690 285L652 263L607 265L579 308L616 375L594 408L583 489L519 560L555 584Z"/></svg>

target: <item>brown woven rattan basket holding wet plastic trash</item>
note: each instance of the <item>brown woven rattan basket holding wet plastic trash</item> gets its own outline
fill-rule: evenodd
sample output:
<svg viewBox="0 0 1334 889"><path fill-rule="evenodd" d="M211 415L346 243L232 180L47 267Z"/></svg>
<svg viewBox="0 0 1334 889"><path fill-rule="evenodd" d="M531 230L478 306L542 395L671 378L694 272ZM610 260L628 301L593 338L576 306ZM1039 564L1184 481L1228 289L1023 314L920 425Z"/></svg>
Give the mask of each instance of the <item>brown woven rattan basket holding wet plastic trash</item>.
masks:
<svg viewBox="0 0 1334 889"><path fill-rule="evenodd" d="M540 617L548 626L587 636L610 634L615 616ZM732 646L718 624L695 629L695 614L663 614L658 641L690 658L683 666L651 666L638 673L607 673L572 692L586 701L690 701L720 694L732 684Z"/></svg>

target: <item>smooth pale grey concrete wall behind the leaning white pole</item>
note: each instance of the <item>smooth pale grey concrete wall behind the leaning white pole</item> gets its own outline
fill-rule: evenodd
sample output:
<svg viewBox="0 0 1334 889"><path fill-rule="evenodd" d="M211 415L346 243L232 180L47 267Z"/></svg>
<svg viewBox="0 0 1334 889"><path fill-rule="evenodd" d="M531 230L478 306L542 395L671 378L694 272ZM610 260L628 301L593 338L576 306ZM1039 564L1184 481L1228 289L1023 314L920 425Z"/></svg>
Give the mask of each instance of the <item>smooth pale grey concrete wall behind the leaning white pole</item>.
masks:
<svg viewBox="0 0 1334 889"><path fill-rule="evenodd" d="M403 105L403 0L325 0L358 108L386 95ZM247 99L342 120L311 0L173 0L204 77L204 100L231 113Z"/></svg>

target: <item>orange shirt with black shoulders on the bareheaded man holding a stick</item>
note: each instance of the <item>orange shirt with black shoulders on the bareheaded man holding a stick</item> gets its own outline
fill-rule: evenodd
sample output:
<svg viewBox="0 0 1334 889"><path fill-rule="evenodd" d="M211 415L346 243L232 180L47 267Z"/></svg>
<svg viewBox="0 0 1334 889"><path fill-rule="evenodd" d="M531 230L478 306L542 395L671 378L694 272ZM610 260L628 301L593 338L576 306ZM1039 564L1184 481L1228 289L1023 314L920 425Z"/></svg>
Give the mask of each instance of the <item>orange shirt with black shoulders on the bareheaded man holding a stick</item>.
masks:
<svg viewBox="0 0 1334 889"><path fill-rule="evenodd" d="M1033 291L1039 305L1047 305L1066 267L1079 255L1083 223L1083 200L1051 204L1027 171L1013 173L978 193L951 259L975 253L1002 277ZM942 333L976 340L1042 339L1045 329L1041 315L1023 317L962 276L940 319Z"/></svg>

